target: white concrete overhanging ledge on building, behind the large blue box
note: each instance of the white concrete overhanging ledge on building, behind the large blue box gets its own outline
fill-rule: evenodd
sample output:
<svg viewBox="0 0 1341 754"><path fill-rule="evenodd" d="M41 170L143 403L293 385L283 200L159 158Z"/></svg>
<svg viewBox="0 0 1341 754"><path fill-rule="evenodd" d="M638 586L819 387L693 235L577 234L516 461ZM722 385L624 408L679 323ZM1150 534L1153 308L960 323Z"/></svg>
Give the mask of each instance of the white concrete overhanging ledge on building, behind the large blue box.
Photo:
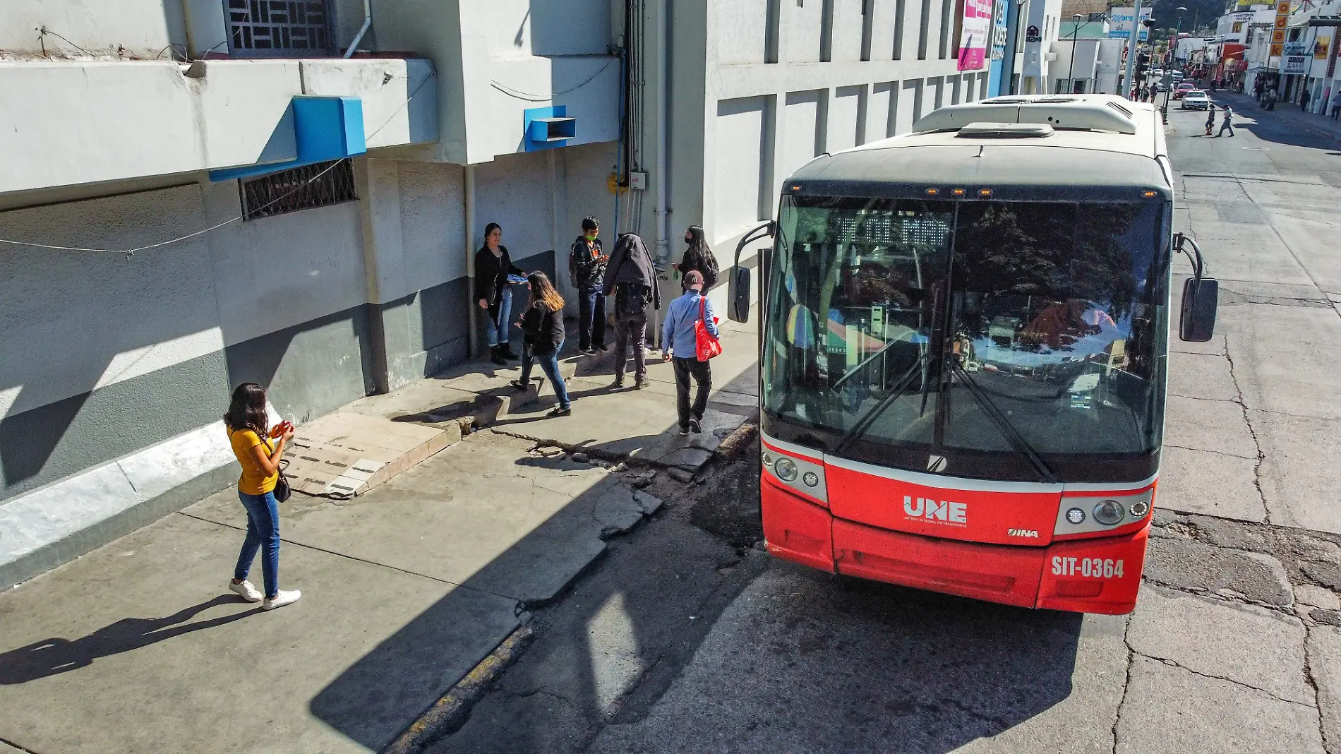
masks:
<svg viewBox="0 0 1341 754"><path fill-rule="evenodd" d="M0 102L13 103L0 107L0 193L291 158L279 126L299 94L361 98L370 146L437 138L432 85L406 105L432 75L424 60L204 66L188 78L170 62L0 63Z"/></svg>

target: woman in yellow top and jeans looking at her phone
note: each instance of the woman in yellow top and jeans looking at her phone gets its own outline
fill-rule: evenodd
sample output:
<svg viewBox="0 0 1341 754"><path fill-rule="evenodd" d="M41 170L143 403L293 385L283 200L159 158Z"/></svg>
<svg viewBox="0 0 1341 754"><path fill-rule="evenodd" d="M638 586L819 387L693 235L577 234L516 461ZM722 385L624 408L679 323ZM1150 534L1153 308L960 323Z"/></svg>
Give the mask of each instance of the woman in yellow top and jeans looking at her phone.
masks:
<svg viewBox="0 0 1341 754"><path fill-rule="evenodd" d="M294 439L294 431L286 429L276 443L268 437L270 417L266 415L266 388L256 382L243 382L233 390L233 400L224 415L224 428L233 455L243 467L237 479L237 496L247 508L247 538L237 555L237 568L228 588L248 602L260 602L263 596L247 581L247 572L261 550L261 573L266 577L267 610L296 602L302 592L279 589L279 504L275 500L275 484L279 483L279 459L284 456L284 445Z"/></svg>

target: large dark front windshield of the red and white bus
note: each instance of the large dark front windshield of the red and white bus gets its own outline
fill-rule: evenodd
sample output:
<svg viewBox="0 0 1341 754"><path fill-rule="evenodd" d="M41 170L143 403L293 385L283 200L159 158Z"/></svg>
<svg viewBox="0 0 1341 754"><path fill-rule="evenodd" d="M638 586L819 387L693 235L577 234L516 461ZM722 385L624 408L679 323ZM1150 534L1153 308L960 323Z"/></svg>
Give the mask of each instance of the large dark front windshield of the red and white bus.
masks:
<svg viewBox="0 0 1341 754"><path fill-rule="evenodd" d="M856 460L1018 480L1155 474L1163 203L784 196L766 431Z"/></svg>

